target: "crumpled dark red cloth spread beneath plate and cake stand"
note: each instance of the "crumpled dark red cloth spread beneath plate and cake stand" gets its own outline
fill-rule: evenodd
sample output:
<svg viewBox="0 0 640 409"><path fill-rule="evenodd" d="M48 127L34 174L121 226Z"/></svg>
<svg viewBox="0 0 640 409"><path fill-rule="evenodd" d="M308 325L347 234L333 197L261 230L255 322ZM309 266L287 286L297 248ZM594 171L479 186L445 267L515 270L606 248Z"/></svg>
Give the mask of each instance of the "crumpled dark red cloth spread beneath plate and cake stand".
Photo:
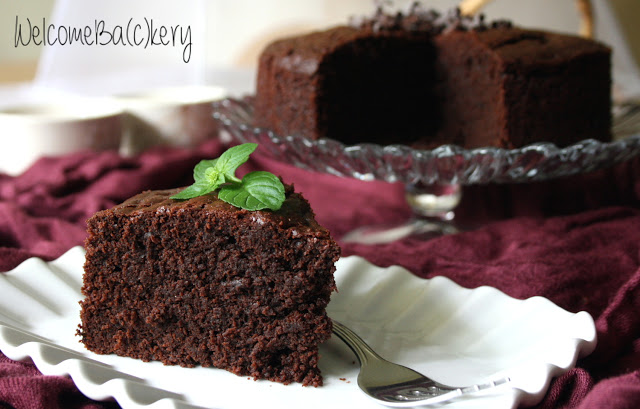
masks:
<svg viewBox="0 0 640 409"><path fill-rule="evenodd" d="M133 158L83 152L41 159L17 177L0 174L0 271L28 257L60 256L82 244L85 220L94 212L144 189L189 184L193 166L222 150L210 141L197 149L156 149ZM360 225L410 215L400 185L341 179L259 157L242 170L258 168L294 183L337 239ZM343 254L588 311L598 330L595 352L555 379L539 406L640 407L640 160L543 183L470 186L458 210L461 220L478 227L430 241L343 243ZM93 402L69 378L43 376L30 362L0 354L0 408L11 407L117 404Z"/></svg>

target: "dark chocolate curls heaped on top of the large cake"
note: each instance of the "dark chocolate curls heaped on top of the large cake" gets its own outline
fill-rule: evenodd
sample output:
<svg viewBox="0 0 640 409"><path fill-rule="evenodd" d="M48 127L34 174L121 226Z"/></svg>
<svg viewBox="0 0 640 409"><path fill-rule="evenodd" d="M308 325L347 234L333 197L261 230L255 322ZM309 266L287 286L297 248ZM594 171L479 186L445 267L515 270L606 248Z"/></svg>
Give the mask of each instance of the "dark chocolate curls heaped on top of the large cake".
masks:
<svg viewBox="0 0 640 409"><path fill-rule="evenodd" d="M351 17L349 25L354 28L381 31L419 31L432 35L449 31L484 31L489 28L511 27L508 20L495 20L487 23L484 14L463 16L459 8L453 8L441 14L437 10L427 9L421 3L414 2L406 13L391 13L385 10L384 4L378 7L372 17Z"/></svg>

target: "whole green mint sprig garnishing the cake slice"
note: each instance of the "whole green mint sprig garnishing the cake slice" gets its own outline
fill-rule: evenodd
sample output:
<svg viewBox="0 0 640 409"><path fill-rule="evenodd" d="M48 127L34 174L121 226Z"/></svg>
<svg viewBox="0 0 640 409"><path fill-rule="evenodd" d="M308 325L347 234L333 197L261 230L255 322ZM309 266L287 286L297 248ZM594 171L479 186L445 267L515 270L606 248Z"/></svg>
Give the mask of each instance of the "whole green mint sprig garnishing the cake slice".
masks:
<svg viewBox="0 0 640 409"><path fill-rule="evenodd" d="M242 179L235 172L258 147L255 143L234 146L218 159L200 161L193 169L194 183L172 199L191 199L218 191L218 198L246 210L278 210L285 199L284 186L270 172L247 173Z"/></svg>

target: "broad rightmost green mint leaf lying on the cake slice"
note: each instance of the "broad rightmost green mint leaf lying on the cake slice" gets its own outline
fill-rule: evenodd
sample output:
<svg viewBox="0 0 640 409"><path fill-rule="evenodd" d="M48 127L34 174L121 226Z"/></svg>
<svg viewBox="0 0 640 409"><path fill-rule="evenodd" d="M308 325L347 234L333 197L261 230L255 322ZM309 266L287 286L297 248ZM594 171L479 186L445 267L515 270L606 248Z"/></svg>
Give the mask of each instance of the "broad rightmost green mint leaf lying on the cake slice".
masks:
<svg viewBox="0 0 640 409"><path fill-rule="evenodd" d="M285 200L284 186L273 173L256 171L242 178L242 183L224 185L218 198L246 210L278 210Z"/></svg>

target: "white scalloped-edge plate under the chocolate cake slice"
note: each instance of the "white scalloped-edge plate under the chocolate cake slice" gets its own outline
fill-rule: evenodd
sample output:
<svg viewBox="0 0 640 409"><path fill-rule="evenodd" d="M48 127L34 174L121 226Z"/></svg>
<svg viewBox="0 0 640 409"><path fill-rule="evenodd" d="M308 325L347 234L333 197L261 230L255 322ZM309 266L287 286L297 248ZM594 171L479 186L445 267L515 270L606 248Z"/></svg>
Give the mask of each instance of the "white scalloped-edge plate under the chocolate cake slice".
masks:
<svg viewBox="0 0 640 409"><path fill-rule="evenodd" d="M180 368L84 349L79 323L84 250L46 263L29 259L0 274L0 349L32 359L46 375L70 375L93 399L123 408L379 408L357 386L358 366L336 337L321 347L325 386L254 381L219 369ZM466 289L444 277L418 278L360 257L338 261L339 292L329 315L380 354L455 385L509 375L511 387L447 408L514 408L539 402L553 376L593 351L595 325L549 300L516 300L491 287Z"/></svg>

